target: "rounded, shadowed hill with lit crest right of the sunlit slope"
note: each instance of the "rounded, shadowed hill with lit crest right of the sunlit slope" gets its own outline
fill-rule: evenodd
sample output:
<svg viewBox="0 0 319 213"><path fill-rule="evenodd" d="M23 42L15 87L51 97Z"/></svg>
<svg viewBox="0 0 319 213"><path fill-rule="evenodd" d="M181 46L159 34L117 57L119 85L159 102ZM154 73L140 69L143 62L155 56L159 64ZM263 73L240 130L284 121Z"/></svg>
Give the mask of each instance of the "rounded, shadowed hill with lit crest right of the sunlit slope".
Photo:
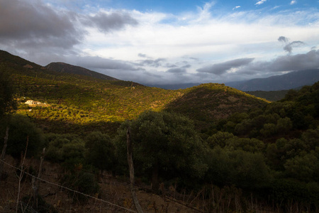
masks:
<svg viewBox="0 0 319 213"><path fill-rule="evenodd" d="M245 112L267 104L264 99L224 84L201 84L181 91L184 95L170 102L166 109L198 121L225 119L235 112Z"/></svg>

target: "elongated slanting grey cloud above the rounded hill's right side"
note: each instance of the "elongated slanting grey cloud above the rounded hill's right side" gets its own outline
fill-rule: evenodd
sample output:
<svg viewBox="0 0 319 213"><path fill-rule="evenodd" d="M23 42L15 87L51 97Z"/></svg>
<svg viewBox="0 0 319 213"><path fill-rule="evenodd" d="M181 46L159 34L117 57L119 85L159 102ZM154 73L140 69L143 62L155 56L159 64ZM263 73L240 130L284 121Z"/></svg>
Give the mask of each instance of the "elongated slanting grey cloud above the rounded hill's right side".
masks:
<svg viewBox="0 0 319 213"><path fill-rule="evenodd" d="M223 75L225 72L227 72L231 68L237 68L237 67L248 65L250 62L252 62L252 60L254 60L254 58L239 58L239 59L229 60L219 64L211 65L208 67L203 67L196 71L213 73L215 75Z"/></svg>

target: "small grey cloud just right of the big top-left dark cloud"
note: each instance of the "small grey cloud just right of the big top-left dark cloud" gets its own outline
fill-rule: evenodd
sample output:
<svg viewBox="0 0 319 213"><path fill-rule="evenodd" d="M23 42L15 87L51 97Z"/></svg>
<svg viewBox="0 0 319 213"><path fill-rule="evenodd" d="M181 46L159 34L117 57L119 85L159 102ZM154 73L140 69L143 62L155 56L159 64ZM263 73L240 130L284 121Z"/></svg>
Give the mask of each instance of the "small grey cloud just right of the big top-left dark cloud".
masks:
<svg viewBox="0 0 319 213"><path fill-rule="evenodd" d="M110 14L99 12L95 16L84 16L82 23L86 26L95 26L103 32L120 30L127 25L138 25L138 21L123 11L116 11Z"/></svg>

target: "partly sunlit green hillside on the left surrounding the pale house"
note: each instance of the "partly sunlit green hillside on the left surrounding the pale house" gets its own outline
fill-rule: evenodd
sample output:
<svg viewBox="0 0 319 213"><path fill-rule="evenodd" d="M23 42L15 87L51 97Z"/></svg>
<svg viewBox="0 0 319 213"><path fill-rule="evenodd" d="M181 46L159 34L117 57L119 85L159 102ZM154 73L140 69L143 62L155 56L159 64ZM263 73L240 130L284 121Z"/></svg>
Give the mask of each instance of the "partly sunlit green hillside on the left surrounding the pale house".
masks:
<svg viewBox="0 0 319 213"><path fill-rule="evenodd" d="M133 119L147 109L161 110L179 96L178 92L135 82L47 70L4 51L0 59L1 72L11 74L21 103L32 99L50 104L31 111L21 104L18 109L18 114L27 114L47 131L116 131L118 122Z"/></svg>

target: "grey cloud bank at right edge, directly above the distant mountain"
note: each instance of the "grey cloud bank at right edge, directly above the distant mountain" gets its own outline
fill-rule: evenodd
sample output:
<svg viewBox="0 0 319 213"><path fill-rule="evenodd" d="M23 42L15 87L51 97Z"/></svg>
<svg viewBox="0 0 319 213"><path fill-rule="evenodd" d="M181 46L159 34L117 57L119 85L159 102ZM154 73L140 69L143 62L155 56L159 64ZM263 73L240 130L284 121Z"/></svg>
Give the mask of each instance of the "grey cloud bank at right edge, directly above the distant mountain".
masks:
<svg viewBox="0 0 319 213"><path fill-rule="evenodd" d="M252 75L266 72L286 72L315 69L319 67L319 50L310 50L306 54L284 55L269 62L253 62L240 68L237 73Z"/></svg>

